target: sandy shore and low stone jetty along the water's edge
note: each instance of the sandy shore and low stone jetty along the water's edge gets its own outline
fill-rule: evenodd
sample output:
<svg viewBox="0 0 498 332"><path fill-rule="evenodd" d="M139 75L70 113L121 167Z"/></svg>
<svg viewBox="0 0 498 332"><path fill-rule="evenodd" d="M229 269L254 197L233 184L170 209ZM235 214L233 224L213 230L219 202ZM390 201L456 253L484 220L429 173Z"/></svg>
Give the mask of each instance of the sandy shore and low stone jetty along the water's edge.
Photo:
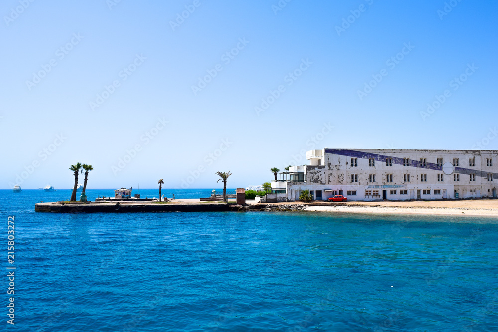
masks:
<svg viewBox="0 0 498 332"><path fill-rule="evenodd" d="M438 215L488 217L498 219L498 200L467 201L381 201L381 202L281 202L249 203L200 202L198 199L178 199L158 202L47 202L36 203L36 212L58 213L132 213L132 212L228 212L280 211L341 214Z"/></svg>

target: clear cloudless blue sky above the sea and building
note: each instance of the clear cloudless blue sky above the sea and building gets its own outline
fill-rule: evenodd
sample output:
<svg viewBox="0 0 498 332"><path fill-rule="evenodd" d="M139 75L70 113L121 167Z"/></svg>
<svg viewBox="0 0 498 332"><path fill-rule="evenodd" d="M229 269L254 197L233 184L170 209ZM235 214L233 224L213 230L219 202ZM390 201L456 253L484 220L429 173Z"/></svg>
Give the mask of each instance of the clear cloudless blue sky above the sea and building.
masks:
<svg viewBox="0 0 498 332"><path fill-rule="evenodd" d="M3 0L0 14L1 188L70 188L76 162L90 188L220 188L229 170L233 188L313 148L498 149L496 1Z"/></svg>

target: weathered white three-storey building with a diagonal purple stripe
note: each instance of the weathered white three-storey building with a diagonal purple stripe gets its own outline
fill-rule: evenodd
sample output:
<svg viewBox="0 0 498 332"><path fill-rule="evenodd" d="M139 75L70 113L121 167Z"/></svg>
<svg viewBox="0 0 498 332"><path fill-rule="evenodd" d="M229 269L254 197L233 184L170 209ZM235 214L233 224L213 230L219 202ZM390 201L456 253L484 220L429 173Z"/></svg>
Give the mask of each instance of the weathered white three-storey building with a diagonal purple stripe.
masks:
<svg viewBox="0 0 498 332"><path fill-rule="evenodd" d="M496 150L323 149L306 152L310 165L292 166L272 181L278 200L302 190L315 200L409 200L497 197Z"/></svg>

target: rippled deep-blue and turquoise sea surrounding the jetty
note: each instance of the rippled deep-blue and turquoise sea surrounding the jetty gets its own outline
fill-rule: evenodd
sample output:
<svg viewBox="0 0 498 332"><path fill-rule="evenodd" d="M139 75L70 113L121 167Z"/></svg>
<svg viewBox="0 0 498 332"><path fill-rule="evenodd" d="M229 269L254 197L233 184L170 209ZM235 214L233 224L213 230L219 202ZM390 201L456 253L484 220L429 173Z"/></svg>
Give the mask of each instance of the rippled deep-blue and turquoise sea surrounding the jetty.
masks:
<svg viewBox="0 0 498 332"><path fill-rule="evenodd" d="M34 212L70 192L0 190L1 331L498 331L498 217Z"/></svg>

